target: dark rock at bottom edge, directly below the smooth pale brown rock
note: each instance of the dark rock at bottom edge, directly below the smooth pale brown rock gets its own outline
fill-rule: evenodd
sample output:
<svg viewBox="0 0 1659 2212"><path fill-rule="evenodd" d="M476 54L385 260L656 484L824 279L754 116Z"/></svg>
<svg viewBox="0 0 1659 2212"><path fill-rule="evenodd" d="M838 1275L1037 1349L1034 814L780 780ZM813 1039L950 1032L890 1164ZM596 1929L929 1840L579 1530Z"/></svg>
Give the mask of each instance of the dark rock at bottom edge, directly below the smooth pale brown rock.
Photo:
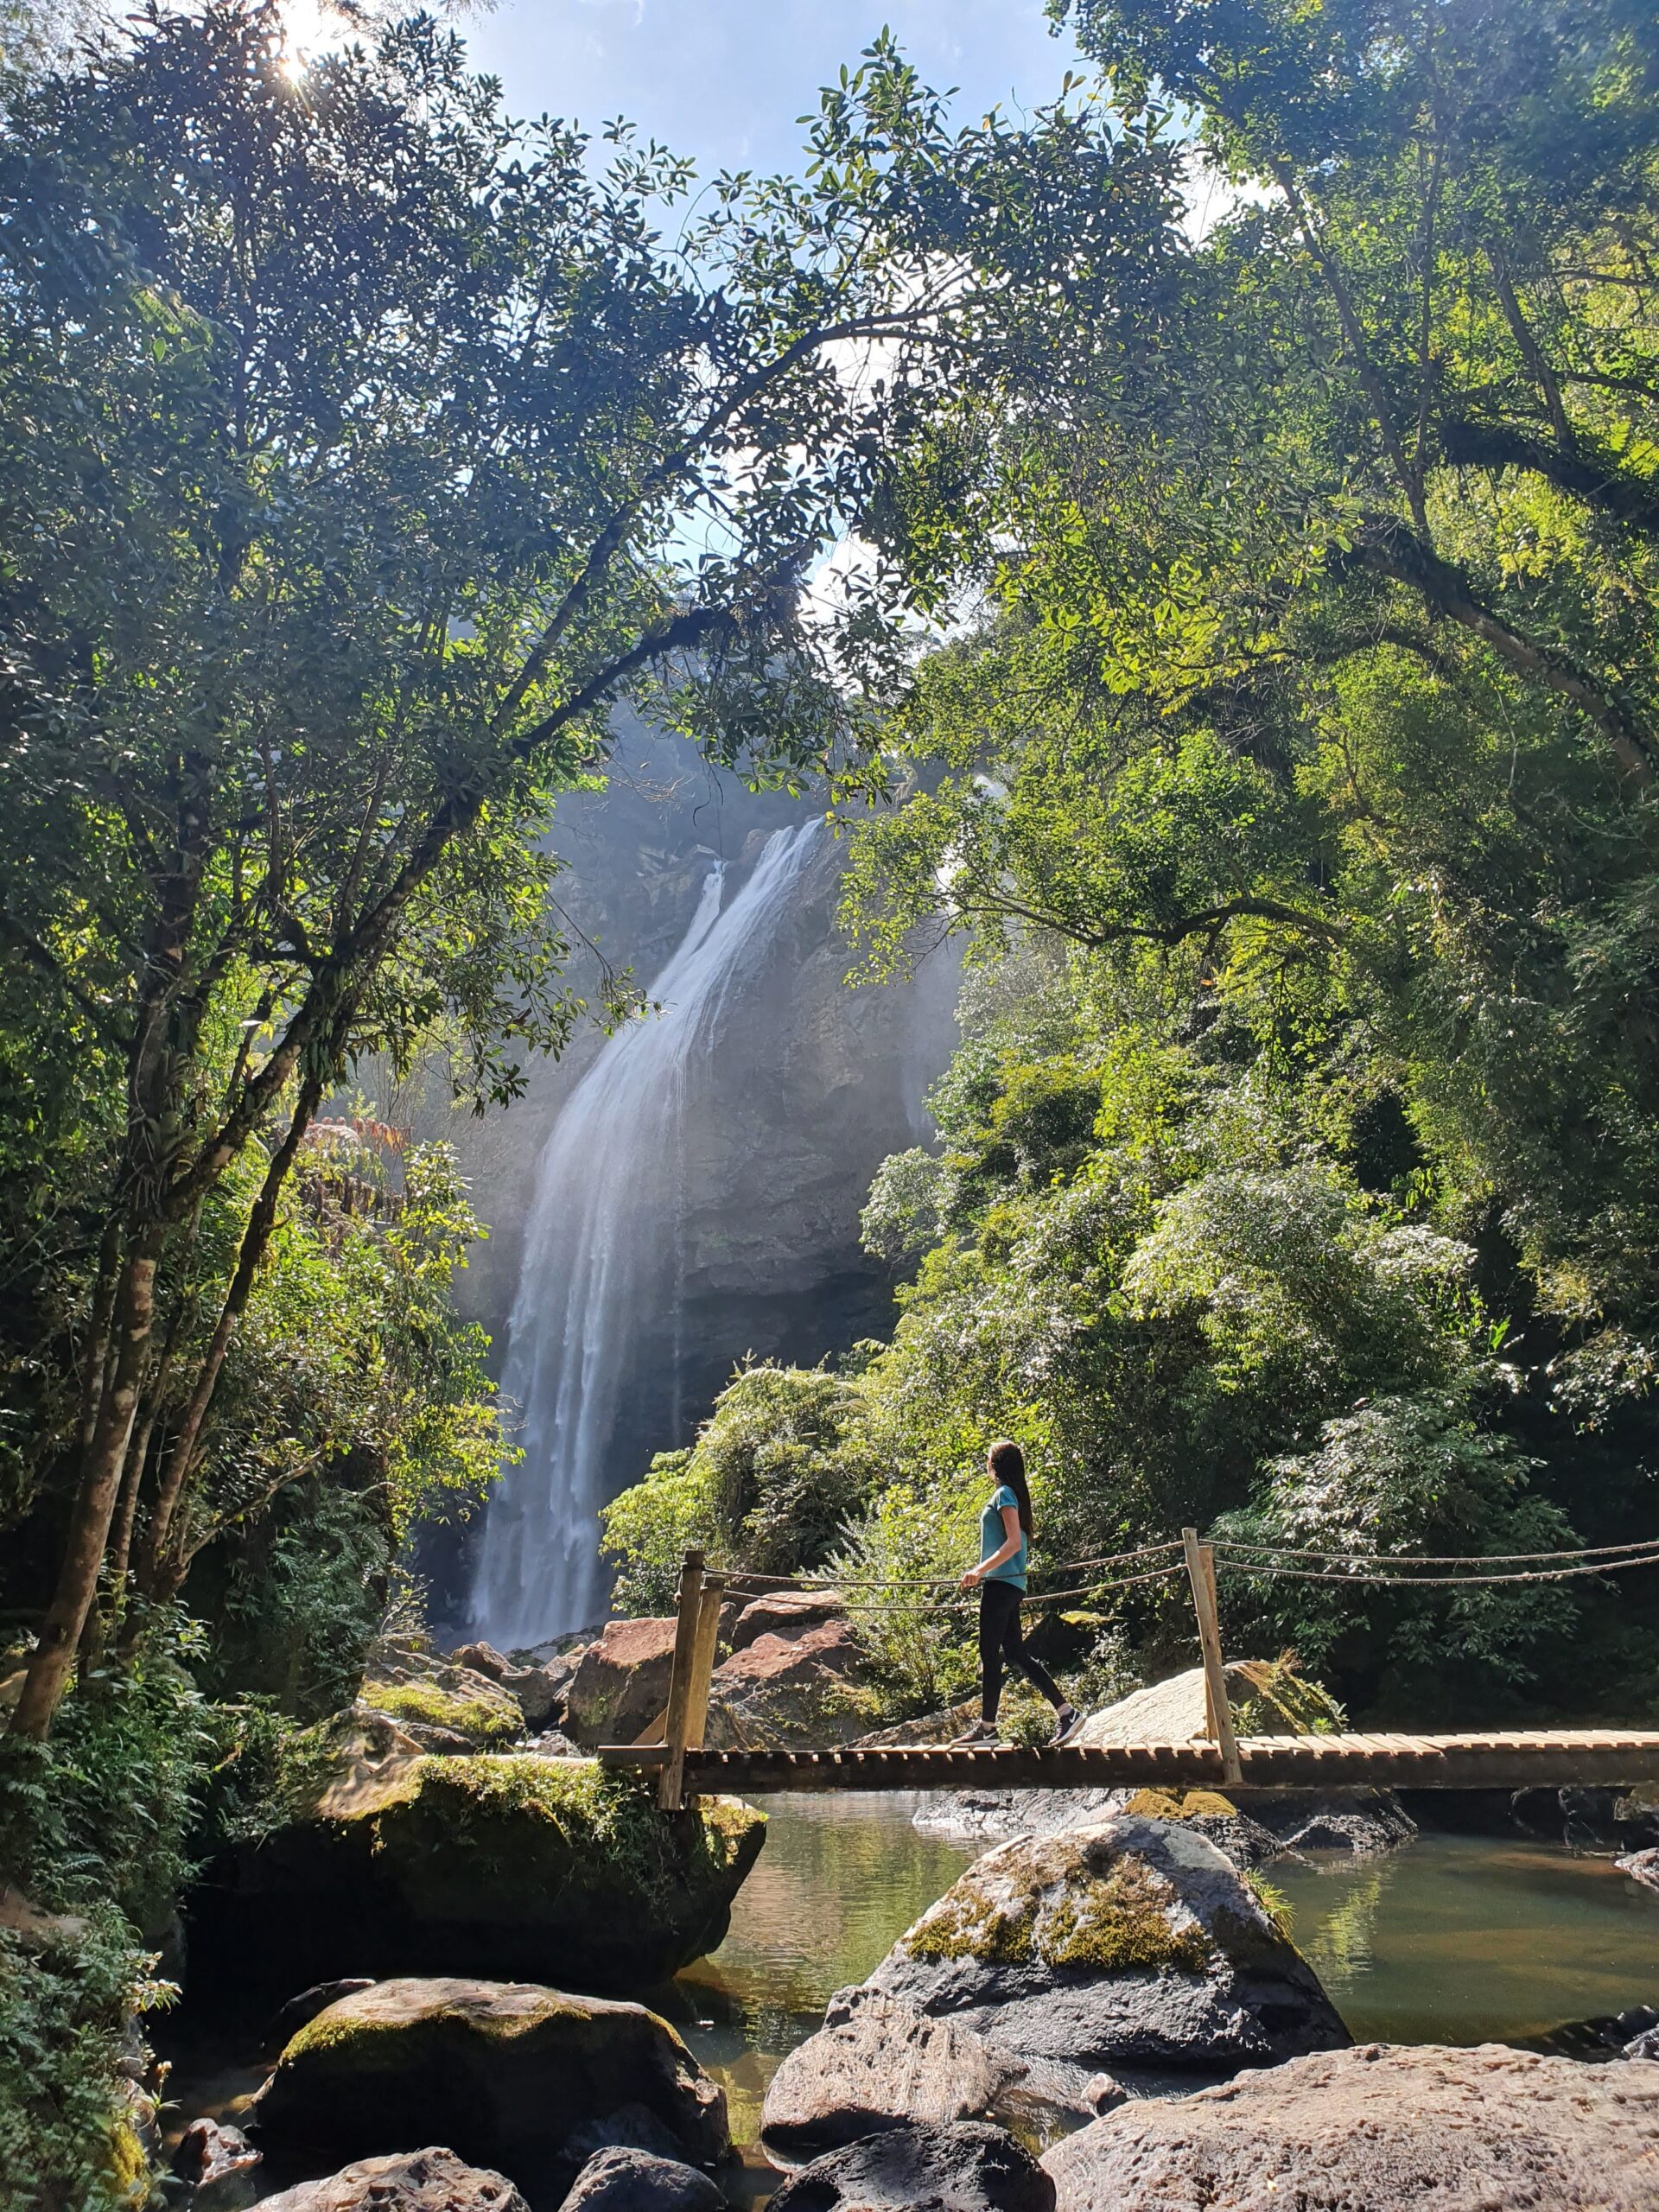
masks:
<svg viewBox="0 0 1659 2212"><path fill-rule="evenodd" d="M984 2121L887 2128L830 2150L772 2197L772 2212L1053 2212L1031 2152Z"/></svg>

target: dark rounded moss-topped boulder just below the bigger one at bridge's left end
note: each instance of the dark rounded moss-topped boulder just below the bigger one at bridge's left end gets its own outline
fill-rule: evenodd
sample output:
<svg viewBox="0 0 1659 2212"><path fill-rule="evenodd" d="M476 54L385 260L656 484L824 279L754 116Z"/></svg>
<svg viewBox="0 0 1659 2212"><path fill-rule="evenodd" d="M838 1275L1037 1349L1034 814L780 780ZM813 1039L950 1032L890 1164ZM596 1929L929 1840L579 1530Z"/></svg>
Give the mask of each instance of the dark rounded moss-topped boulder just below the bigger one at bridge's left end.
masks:
<svg viewBox="0 0 1659 2212"><path fill-rule="evenodd" d="M283 2154L367 2159L438 2135L509 2172L602 2143L721 2159L726 2095L646 2011L533 1982L398 1980L341 1997L288 2044L254 2112Z"/></svg>

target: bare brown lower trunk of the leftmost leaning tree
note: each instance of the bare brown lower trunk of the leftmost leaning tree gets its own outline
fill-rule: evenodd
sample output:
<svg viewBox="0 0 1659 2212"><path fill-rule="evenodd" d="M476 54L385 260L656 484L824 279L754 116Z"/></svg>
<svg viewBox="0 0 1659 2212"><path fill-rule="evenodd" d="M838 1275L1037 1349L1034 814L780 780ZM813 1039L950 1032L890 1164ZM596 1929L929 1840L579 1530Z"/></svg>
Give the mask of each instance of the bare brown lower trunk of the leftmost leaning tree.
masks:
<svg viewBox="0 0 1659 2212"><path fill-rule="evenodd" d="M97 1411L97 1427L82 1460L75 1509L69 1517L64 1562L58 1588L40 1624L40 1641L29 1659L11 1734L44 1743L51 1719L75 1663L86 1613L97 1595L97 1571L104 1564L108 1524L122 1486L126 1447L133 1436L144 1367L155 1325L155 1261L161 1250L161 1228L146 1228L126 1259L115 1292L115 1376Z"/></svg>

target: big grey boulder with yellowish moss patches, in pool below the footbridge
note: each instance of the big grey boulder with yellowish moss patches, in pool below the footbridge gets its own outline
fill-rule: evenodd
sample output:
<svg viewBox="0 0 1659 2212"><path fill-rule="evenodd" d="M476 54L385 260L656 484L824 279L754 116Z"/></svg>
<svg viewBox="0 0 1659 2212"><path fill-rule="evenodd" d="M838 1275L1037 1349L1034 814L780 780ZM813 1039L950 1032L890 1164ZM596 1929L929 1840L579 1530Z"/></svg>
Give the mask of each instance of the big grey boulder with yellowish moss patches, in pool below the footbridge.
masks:
<svg viewBox="0 0 1659 2212"><path fill-rule="evenodd" d="M1097 2073L1221 2077L1349 2039L1239 1869L1133 1816L987 1851L872 1986L982 2035L1077 2112Z"/></svg>

